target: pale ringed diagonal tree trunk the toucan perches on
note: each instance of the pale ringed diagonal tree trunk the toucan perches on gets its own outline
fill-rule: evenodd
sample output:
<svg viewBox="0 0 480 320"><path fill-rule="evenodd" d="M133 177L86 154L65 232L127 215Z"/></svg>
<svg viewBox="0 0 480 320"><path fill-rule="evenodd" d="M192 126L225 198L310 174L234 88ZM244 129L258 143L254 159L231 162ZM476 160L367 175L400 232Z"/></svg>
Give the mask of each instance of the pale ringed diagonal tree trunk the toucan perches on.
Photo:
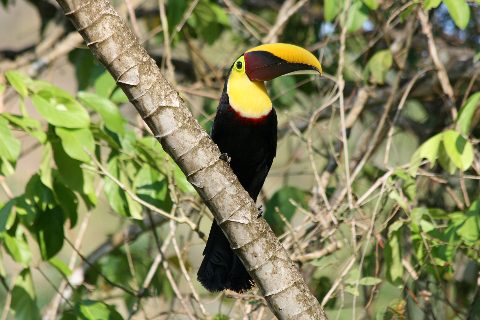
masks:
<svg viewBox="0 0 480 320"><path fill-rule="evenodd" d="M57 0L214 214L279 320L327 320L288 252L137 38L106 0Z"/></svg>

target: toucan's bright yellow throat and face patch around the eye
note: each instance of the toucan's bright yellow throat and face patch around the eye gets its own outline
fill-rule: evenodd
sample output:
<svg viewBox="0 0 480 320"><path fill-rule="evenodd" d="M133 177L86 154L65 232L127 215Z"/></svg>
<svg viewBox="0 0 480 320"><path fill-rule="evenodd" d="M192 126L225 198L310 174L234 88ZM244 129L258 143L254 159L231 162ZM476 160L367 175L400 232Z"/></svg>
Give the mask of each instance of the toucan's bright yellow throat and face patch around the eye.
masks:
<svg viewBox="0 0 480 320"><path fill-rule="evenodd" d="M241 56L233 64L228 77L227 94L230 106L245 118L258 119L272 110L272 101L263 81L250 81L245 73L245 59Z"/></svg>

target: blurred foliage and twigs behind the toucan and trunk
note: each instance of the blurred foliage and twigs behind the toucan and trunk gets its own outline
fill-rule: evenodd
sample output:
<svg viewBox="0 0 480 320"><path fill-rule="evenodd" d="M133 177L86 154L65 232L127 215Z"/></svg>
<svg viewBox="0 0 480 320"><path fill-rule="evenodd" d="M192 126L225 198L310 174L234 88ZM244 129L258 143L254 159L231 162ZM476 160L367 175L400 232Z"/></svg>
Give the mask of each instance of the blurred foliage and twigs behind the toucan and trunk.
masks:
<svg viewBox="0 0 480 320"><path fill-rule="evenodd" d="M0 320L275 319L196 281L213 217L58 5L1 2ZM258 204L330 319L480 319L477 0L113 5L207 131L245 50L319 58Z"/></svg>

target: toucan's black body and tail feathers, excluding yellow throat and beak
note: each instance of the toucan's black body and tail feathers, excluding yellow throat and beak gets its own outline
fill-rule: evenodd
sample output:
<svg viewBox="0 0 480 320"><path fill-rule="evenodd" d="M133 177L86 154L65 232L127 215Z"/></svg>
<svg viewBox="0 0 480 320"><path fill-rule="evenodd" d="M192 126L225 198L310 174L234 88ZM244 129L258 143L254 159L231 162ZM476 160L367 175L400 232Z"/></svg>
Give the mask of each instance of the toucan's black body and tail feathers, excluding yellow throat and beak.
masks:
<svg viewBox="0 0 480 320"><path fill-rule="evenodd" d="M230 75L231 69L228 72ZM240 184L256 202L276 155L277 119L272 107L259 119L241 117L229 104L225 82L210 136L222 153L231 158L230 167ZM209 291L249 290L253 280L228 239L214 220L204 249L198 280Z"/></svg>

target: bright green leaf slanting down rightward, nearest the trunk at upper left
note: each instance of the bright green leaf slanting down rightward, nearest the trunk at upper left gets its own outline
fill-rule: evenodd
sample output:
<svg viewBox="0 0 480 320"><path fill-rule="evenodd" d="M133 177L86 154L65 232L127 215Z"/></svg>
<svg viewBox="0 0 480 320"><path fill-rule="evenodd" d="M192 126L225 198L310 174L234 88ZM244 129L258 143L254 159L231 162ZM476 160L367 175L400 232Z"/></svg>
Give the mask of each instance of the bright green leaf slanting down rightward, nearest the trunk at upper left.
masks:
<svg viewBox="0 0 480 320"><path fill-rule="evenodd" d="M108 76L111 78L109 74ZM113 102L105 97L86 91L80 91L77 95L86 107L102 116L108 129L123 136L123 123L126 120L120 115L119 108Z"/></svg>

